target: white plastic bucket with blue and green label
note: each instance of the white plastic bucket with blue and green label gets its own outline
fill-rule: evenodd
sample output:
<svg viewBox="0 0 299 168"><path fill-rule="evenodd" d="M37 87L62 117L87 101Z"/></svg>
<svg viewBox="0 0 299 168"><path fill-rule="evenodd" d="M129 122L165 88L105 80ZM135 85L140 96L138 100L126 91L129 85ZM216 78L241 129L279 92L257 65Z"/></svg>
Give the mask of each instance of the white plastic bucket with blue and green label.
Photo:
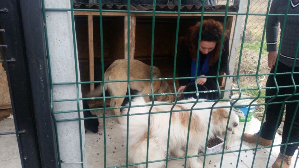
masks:
<svg viewBox="0 0 299 168"><path fill-rule="evenodd" d="M250 97L250 96L247 96L244 94L241 95L241 98L247 98L247 97ZM239 98L239 94L234 94L233 96L231 96L231 99L237 99L237 98ZM245 122L246 115L248 112L248 106L253 100L254 99L241 99L235 103L236 106L241 106L241 107L233 107L232 108L232 111L235 112L239 116L240 122ZM231 100L231 104L234 103L234 101L235 100ZM254 102L252 104L256 104L256 102ZM247 122L251 121L254 109L255 109L255 106L250 106Z"/></svg>

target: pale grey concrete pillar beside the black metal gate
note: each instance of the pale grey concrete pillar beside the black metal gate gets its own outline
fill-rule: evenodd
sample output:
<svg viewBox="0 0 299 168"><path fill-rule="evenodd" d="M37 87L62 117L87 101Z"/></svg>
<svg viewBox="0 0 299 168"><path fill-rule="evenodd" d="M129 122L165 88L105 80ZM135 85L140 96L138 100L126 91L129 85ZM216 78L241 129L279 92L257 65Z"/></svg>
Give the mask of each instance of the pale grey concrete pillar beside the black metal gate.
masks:
<svg viewBox="0 0 299 168"><path fill-rule="evenodd" d="M71 8L69 0L45 0L45 8ZM76 72L75 66L78 67L78 80L80 81L79 66L75 65L74 61L74 46L72 34L72 20L70 11L47 11L46 23L47 34L49 42L49 58L51 62L51 77L53 83L57 82L75 82ZM77 46L76 51L77 51ZM78 58L76 58L78 59ZM76 85L54 85L53 99L70 99L77 98ZM79 97L81 95L81 86L79 85ZM76 101L67 101L53 104L54 111L77 110ZM82 109L82 102L80 101L80 109ZM83 117L83 112L80 113ZM70 119L78 118L78 113L64 113L56 114L56 119ZM58 138L59 138L59 152L60 160L64 162L76 163L62 163L62 167L81 167L80 157L80 135L82 134L82 148L83 158L85 155L85 134L84 121L81 120L81 130L79 129L78 120L66 121L57 123Z"/></svg>

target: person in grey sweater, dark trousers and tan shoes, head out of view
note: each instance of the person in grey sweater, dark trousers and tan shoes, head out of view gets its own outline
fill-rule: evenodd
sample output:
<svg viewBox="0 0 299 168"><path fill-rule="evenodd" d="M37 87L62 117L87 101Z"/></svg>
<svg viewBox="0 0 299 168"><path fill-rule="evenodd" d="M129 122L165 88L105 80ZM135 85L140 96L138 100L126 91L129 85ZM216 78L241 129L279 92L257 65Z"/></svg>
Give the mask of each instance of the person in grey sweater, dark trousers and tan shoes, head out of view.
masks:
<svg viewBox="0 0 299 168"><path fill-rule="evenodd" d="M270 8L270 13L274 14L285 14L287 5L291 5L289 7L289 14L299 14L299 0L291 0L289 4L289 0L273 0ZM270 73L274 73L274 65L276 62L276 58L278 55L277 52L277 36L278 36L278 25L283 25L285 16L268 16L268 22L266 27L266 37L267 37L267 51L268 53L268 66L271 68ZM282 28L282 26L281 26ZM299 16L287 16L286 27L284 30L283 39L280 43L281 50L279 56L279 62L277 65L277 73L287 73L292 71L292 66L294 61L295 70L294 72L299 72L299 56L295 60L296 49L299 40ZM296 85L299 85L299 74L294 74L294 81ZM291 74L282 74L276 75L276 81L278 86L289 86L293 85ZM274 77L273 75L268 77L266 87L275 87ZM276 94L276 89L267 89L266 96L273 96ZM281 94L292 94L294 92L294 87L290 88L279 88L278 95ZM299 87L297 87L296 93L299 93ZM266 98L266 102L268 102L270 98ZM276 97L271 102L282 102L286 97ZM299 100L299 96L293 96L289 100ZM289 101L288 100L288 101ZM282 141L281 143L286 143L286 139L289 133L290 125L292 122L292 118L295 113L295 109L298 102L296 103L286 103L286 117L283 125L283 133L282 133ZM278 115L280 113L282 103L280 104L269 104L266 111L266 120L263 123L263 127L260 134L259 143L263 146L270 146L272 144L272 138L275 134L275 126L277 120L279 120L279 124L282 121L283 115L278 119ZM258 133L254 135L244 134L244 140L251 143L257 143ZM297 110L297 114L295 116L295 121L290 133L289 143L298 142L299 141L299 112ZM295 153L295 150L298 148L297 144L290 144L286 146L286 155L283 159L282 168L289 168L291 164L292 156ZM280 146L280 153L272 165L273 168L280 167L280 163L282 161L282 154L284 152L285 145Z"/></svg>

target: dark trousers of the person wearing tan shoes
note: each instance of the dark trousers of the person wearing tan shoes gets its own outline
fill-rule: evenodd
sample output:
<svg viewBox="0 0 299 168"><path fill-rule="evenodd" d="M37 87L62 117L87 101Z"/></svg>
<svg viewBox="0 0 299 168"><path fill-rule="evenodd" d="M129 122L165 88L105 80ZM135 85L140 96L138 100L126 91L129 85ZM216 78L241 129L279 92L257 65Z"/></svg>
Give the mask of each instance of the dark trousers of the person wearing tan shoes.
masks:
<svg viewBox="0 0 299 168"><path fill-rule="evenodd" d="M283 63L278 62L277 65L277 73L282 73L282 72L291 72L292 71L292 67L286 66ZM299 67L296 67L294 72L299 72ZM270 73L274 73L274 68L270 71ZM296 85L299 85L299 74L294 74L294 81ZM291 79L291 74L282 74L282 75L276 75L276 81L277 81L277 85L278 86L288 86L288 85L293 85L292 83L292 79ZM266 83L266 87L273 87L275 86L274 83L274 77L273 75L270 75L268 77L267 83ZM266 90L266 96L272 96L276 94L277 89L267 89ZM278 95L282 95L282 94L292 94L294 92L294 87L290 87L290 88L279 88L279 93ZM299 87L297 87L297 91L296 93L299 93ZM276 97L274 98L271 102L282 102L283 100L285 100L288 96L283 96L283 97ZM267 101L271 99L271 98L266 98L265 102L267 103ZM293 96L290 99L288 99L287 101L290 100L296 100L297 102L295 103L286 103L286 118L284 121L284 125L283 125L283 133L282 133L282 141L281 143L286 143L286 139L288 138L288 134L289 134L289 129L291 126L291 122L292 119L294 117L295 114L295 110L296 110L296 106L299 103L299 96ZM278 120L278 115L280 113L280 109L282 107L282 103L279 104L269 104L267 111L266 111L266 121L265 123L263 123L263 128L261 130L261 137L271 140L273 139L273 135L275 134L275 126ZM284 108L283 108L284 111ZM283 118L283 112L279 118L279 125L282 121ZM279 126L278 125L278 126ZM295 121L294 124L292 126L291 129L291 134L289 137L289 143L291 142L299 142L299 110L297 109L297 114L295 116ZM284 151L284 145L280 146L280 152ZM292 145L288 145L286 147L286 155L294 155L295 150L298 148L298 143L297 144L292 144Z"/></svg>

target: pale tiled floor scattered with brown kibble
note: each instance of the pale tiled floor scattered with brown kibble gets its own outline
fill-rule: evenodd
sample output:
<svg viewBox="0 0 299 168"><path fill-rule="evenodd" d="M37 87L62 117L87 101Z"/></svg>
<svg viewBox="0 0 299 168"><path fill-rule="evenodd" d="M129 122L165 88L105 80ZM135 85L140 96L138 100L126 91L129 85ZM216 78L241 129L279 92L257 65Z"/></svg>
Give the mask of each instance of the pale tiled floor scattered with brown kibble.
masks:
<svg viewBox="0 0 299 168"><path fill-rule="evenodd" d="M107 111L108 114L112 114ZM102 115L101 112L95 112L94 114ZM106 119L106 167L115 167L119 165L126 164L126 138L121 135L122 130L115 118ZM239 150L240 147L240 137L242 135L242 130L244 128L244 123L240 123L236 129L236 134L232 135L230 149L225 151L235 151ZM247 123L245 132L254 133L260 128L260 121L253 119L251 122ZM104 162L104 139L103 139L103 120L100 119L98 134L94 134L88 131L85 135L86 137L86 160L87 167L103 167ZM13 132L14 125L13 119L5 119L0 121L0 132ZM277 134L274 144L279 144L281 136ZM242 149L255 148L255 144L247 143L243 141ZM269 157L270 149L258 149L254 160L254 167L266 167L267 160ZM297 155L298 150L295 155ZM274 147L271 152L271 157L269 161L269 166L273 164L277 155L279 153L279 147ZM236 167L239 152L226 153L223 156L222 167ZM251 167L253 161L254 151L241 152L239 157L238 167L247 168ZM172 158L173 155L170 155ZM204 157L198 158L200 162L203 162ZM205 159L205 167L219 167L221 162L221 155L211 155L207 156ZM292 161L291 167L294 167L295 159ZM298 163L299 164L299 163ZM297 164L297 167L299 165ZM169 161L168 167L170 168L181 168L184 165L184 159L171 160ZM17 168L21 167L20 156L17 146L17 141L15 135L3 135L0 136L0 167L2 168Z"/></svg>

